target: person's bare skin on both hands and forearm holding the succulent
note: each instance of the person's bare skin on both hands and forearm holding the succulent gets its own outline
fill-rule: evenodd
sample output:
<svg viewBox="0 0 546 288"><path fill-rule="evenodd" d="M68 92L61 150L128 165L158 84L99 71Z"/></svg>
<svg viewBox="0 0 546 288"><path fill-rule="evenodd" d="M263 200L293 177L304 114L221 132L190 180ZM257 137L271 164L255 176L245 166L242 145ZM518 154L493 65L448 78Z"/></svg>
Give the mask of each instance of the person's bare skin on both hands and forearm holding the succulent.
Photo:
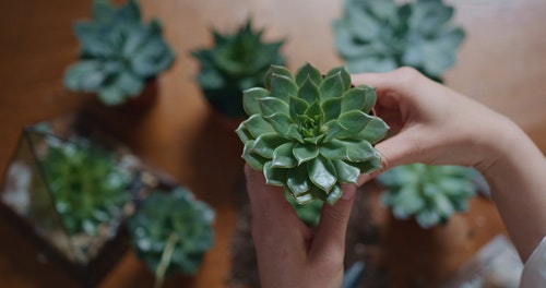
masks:
<svg viewBox="0 0 546 288"><path fill-rule="evenodd" d="M376 112L394 132L376 145L381 171L411 163L475 167L526 261L546 236L546 160L533 141L505 116L411 68L353 75L353 83L377 88ZM358 184L381 171L363 175ZM344 185L343 197L324 205L311 232L282 189L249 166L245 172L262 287L340 287L356 185Z"/></svg>

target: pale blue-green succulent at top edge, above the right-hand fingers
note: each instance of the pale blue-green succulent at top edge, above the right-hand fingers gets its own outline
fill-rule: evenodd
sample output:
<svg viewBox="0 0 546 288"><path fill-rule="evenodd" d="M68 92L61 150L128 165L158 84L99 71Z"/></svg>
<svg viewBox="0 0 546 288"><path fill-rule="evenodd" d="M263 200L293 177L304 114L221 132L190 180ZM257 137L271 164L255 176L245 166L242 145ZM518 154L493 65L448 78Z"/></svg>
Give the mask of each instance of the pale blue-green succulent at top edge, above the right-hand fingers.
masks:
<svg viewBox="0 0 546 288"><path fill-rule="evenodd" d="M345 0L334 22L335 47L353 73L413 67L439 80L465 37L441 0Z"/></svg>

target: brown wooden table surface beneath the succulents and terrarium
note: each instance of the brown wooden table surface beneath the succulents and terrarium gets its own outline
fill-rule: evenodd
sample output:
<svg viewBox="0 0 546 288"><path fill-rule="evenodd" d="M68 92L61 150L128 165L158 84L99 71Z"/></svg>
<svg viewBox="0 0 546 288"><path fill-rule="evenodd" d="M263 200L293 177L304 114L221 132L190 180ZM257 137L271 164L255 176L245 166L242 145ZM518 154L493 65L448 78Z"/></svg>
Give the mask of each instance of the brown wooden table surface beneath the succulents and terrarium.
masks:
<svg viewBox="0 0 546 288"><path fill-rule="evenodd" d="M119 2L119 1L118 1ZM447 84L521 124L546 149L546 2L456 2L455 21L467 32L456 67ZM240 181L241 145L232 131L218 125L193 81L198 62L190 51L212 44L211 27L235 29L251 15L266 39L285 37L288 67L308 61L321 70L342 63L332 45L331 23L341 15L342 1L332 0L142 0L146 19L161 19L177 53L174 67L159 79L159 99L146 113L131 116L99 109L112 131L156 167L190 188L217 213L215 245L194 277L177 276L168 287L224 287L230 267L229 242L237 207L233 191ZM75 59L78 43L71 25L88 17L86 1L0 2L0 172L3 175L24 125L88 105L88 97L63 89L64 68ZM479 219L479 226L476 226ZM471 213L460 215L435 241L441 249L425 266L436 266L437 278L456 271L503 226L492 204L474 201ZM462 228L461 228L462 227ZM472 242L452 243L459 229L474 229ZM40 264L25 239L0 225L0 279L4 287L72 287L55 265ZM450 242L451 241L451 242ZM427 251L426 247L415 245ZM464 249L456 250L462 245ZM403 247L401 248L404 249ZM461 252L462 251L462 252ZM402 253L402 252L401 252ZM25 261L31 259L33 261ZM395 260L393 260L395 261ZM411 272L401 269L401 279ZM403 281L403 280L401 280ZM153 277L128 252L100 287L151 287Z"/></svg>

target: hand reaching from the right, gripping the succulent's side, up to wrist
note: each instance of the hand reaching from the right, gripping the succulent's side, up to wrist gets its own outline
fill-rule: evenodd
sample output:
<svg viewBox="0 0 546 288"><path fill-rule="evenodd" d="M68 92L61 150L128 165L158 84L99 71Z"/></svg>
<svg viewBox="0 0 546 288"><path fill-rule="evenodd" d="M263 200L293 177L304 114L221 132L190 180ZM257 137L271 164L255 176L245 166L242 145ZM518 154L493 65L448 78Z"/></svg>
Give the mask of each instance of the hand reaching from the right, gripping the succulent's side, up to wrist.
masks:
<svg viewBox="0 0 546 288"><path fill-rule="evenodd" d="M486 169L499 157L499 134L513 125L506 117L438 84L412 68L353 75L355 85L376 87L375 110L394 135L376 145L382 169L425 163ZM507 130L507 131L503 131Z"/></svg>

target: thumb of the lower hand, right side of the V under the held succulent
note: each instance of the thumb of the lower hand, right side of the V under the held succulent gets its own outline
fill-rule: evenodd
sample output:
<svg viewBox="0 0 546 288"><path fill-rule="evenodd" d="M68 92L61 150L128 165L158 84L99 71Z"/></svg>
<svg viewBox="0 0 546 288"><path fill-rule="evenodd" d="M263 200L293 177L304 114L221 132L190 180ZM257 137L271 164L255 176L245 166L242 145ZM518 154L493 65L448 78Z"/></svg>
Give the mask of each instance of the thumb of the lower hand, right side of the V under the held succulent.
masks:
<svg viewBox="0 0 546 288"><path fill-rule="evenodd" d="M345 235L355 201L356 185L344 184L343 195L334 204L324 204L317 227L310 256L333 256L343 261L345 254ZM340 259L341 257L341 259Z"/></svg>

